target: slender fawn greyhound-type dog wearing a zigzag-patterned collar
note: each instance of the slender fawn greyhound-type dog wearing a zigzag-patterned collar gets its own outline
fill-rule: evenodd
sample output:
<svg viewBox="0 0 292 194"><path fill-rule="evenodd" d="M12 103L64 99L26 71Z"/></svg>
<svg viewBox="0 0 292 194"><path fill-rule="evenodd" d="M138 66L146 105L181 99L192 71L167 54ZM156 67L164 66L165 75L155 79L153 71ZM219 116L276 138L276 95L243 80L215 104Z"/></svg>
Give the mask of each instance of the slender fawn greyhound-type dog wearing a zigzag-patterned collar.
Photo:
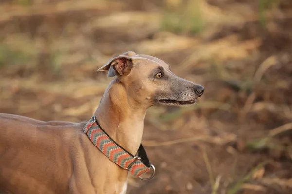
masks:
<svg viewBox="0 0 292 194"><path fill-rule="evenodd" d="M164 61L131 51L97 71L114 79L88 122L0 114L1 194L125 194L128 171L153 171L141 145L146 110L189 106L204 92Z"/></svg>

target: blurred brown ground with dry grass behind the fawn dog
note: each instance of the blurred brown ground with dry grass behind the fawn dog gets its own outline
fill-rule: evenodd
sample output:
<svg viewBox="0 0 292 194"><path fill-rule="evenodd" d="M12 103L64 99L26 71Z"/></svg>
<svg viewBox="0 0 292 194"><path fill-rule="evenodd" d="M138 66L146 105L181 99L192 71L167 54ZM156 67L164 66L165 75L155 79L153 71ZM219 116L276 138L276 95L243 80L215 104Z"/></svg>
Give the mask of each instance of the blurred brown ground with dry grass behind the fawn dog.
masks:
<svg viewBox="0 0 292 194"><path fill-rule="evenodd" d="M292 193L291 0L0 0L0 112L87 121L126 51L206 90L151 107L127 194Z"/></svg>

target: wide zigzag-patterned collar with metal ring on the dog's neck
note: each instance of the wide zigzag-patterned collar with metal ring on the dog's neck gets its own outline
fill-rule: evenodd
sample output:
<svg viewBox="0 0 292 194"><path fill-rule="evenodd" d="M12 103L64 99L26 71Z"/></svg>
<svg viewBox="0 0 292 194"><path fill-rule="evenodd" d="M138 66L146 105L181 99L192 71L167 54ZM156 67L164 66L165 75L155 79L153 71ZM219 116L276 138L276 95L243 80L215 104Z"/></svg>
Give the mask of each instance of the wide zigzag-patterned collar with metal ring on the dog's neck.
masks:
<svg viewBox="0 0 292 194"><path fill-rule="evenodd" d="M142 144L139 146L136 156L126 151L122 146L116 143L110 136L100 127L93 116L83 128L83 132L87 134L91 142L99 151L106 155L112 162L121 168L130 171L130 173L142 180L150 180L155 174L155 167L149 161L146 151ZM149 178L140 177L142 174L150 172Z"/></svg>

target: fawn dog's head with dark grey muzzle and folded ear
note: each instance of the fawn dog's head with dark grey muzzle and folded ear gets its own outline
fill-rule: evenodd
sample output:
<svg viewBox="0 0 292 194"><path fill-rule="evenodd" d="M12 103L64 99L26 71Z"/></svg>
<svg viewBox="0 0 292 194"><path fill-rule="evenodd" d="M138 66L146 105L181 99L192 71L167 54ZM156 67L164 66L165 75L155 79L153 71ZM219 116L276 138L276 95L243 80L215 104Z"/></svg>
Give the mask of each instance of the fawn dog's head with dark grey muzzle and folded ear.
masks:
<svg viewBox="0 0 292 194"><path fill-rule="evenodd" d="M176 76L164 61L149 55L126 52L115 56L97 71L108 71L124 85L129 97L147 107L154 104L189 106L204 87Z"/></svg>

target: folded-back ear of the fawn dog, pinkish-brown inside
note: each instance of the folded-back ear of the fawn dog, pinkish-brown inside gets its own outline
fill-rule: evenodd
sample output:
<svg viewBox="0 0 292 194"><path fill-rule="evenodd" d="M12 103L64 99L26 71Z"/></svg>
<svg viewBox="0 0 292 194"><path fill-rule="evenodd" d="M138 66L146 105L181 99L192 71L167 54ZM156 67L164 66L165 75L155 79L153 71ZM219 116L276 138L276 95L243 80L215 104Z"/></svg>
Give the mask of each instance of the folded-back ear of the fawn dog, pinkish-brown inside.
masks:
<svg viewBox="0 0 292 194"><path fill-rule="evenodd" d="M100 67L97 71L108 71L108 77L115 75L125 76L131 72L132 59L128 53L113 57L105 65Z"/></svg>

